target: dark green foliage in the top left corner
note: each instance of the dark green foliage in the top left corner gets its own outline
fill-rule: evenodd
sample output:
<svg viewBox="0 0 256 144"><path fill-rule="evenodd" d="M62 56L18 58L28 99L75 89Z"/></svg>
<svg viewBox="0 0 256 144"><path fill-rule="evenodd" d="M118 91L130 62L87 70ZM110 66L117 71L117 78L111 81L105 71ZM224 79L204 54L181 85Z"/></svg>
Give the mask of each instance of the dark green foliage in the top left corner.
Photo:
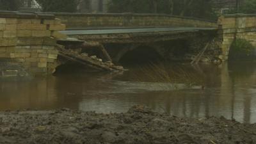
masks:
<svg viewBox="0 0 256 144"><path fill-rule="evenodd" d="M20 0L0 0L0 10L18 10L21 5Z"/></svg>

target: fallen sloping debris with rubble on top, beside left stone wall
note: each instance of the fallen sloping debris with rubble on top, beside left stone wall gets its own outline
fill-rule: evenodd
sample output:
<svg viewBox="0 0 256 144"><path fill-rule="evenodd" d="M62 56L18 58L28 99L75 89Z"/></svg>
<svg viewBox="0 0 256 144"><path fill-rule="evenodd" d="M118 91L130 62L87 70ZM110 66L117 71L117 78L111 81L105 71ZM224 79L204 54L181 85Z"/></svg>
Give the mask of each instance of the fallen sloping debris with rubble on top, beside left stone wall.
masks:
<svg viewBox="0 0 256 144"><path fill-rule="evenodd" d="M68 41L70 41L74 45L77 45L76 40L61 40L60 43L63 44L63 42L67 43ZM97 56L89 56L85 52L79 53L76 51L72 51L72 49L65 49L63 45L58 46L59 56L61 56L61 58L65 58L75 63L80 63L81 65L84 65L86 67L90 67L99 71L120 72L125 70L124 67L116 66L112 63L111 58L108 52L106 52L106 50L104 49L103 45L100 45L97 42L88 43L88 42L82 42L80 40L78 40L77 42L79 47L88 47L88 46L99 47L99 49L102 50L104 55L108 58L108 61L104 62L102 61L102 59L97 58Z"/></svg>

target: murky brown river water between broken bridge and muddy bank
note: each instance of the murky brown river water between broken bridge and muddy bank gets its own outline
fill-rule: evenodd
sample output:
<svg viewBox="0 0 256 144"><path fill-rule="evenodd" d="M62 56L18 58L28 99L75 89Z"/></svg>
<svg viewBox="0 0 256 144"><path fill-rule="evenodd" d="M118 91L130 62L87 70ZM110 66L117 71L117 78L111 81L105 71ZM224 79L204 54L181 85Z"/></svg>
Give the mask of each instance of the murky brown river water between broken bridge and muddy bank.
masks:
<svg viewBox="0 0 256 144"><path fill-rule="evenodd" d="M109 113L143 104L177 116L225 116L255 123L255 64L191 67L168 63L132 67L124 74L77 72L1 81L0 110L70 108Z"/></svg>

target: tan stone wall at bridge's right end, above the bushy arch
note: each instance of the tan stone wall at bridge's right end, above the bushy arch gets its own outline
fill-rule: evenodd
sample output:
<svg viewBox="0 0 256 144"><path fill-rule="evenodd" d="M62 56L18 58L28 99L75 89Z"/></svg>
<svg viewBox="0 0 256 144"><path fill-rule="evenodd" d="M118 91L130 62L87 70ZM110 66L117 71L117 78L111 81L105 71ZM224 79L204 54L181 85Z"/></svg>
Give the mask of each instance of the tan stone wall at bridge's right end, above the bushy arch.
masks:
<svg viewBox="0 0 256 144"><path fill-rule="evenodd" d="M223 41L220 45L222 56L220 58L228 60L230 45L235 38L244 38L256 47L256 15L223 15L219 18L220 36Z"/></svg>

